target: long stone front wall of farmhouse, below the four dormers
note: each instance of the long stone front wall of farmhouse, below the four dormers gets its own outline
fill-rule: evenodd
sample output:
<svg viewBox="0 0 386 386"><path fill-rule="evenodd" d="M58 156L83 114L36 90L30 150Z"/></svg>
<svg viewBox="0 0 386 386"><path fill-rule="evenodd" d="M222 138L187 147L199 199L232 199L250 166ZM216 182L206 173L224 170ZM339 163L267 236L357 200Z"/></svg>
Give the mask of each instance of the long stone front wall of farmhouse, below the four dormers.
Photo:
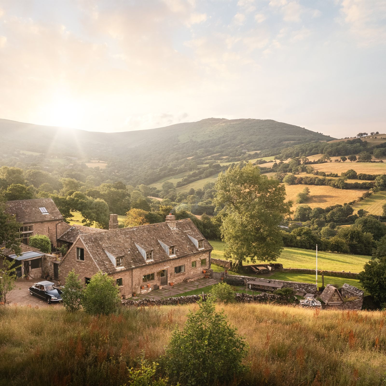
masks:
<svg viewBox="0 0 386 386"><path fill-rule="evenodd" d="M206 259L206 264L201 266L201 259ZM196 267L192 267L192 261L196 262ZM174 267L185 265L185 272L174 273ZM181 283L182 281L189 280L191 278L203 278L205 274L203 270L207 270L209 267L209 252L198 253L193 256L180 257L173 260L168 260L160 262L157 264L149 264L143 267L134 268L130 271L122 271L113 273L112 276L115 279L122 278L122 284L124 288L121 288L121 294L125 297L132 296L132 293L137 294L141 293L141 286L145 286L145 290L148 290L147 284L149 284L151 289L157 289L159 284L161 284L161 278L157 275L159 271L167 269L168 278L167 284L169 283ZM146 283L142 282L142 276L154 273L154 280L147 281Z"/></svg>

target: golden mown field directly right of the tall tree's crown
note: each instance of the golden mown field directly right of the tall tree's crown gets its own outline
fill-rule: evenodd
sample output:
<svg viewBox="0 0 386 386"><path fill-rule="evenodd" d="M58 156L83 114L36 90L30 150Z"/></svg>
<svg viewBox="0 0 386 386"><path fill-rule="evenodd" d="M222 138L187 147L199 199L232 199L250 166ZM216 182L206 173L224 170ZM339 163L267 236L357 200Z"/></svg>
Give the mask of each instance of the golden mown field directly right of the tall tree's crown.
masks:
<svg viewBox="0 0 386 386"><path fill-rule="evenodd" d="M331 186L316 186L316 185L287 185L286 194L287 201L292 200L294 205L292 210L295 210L298 205L309 205L311 208L326 208L330 205L344 204L354 201L361 197L365 190L363 189L335 189ZM295 204L296 195L308 186L310 188L310 198L303 204Z"/></svg>

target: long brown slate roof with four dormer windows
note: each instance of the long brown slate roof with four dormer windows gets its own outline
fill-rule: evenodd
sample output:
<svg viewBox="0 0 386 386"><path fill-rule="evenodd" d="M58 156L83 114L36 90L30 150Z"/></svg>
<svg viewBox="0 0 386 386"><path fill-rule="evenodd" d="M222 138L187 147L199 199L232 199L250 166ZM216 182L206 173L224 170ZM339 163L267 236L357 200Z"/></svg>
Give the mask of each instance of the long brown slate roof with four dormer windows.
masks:
<svg viewBox="0 0 386 386"><path fill-rule="evenodd" d="M203 240L204 248L198 249L188 235L197 240ZM105 273L122 271L122 269L117 269L114 266L106 252L117 258L123 257L125 269L132 269L163 261L171 261L180 257L193 256L213 249L190 218L177 220L175 229L170 229L166 222L161 222L139 227L82 234L79 238L85 244L87 251L91 254L99 269ZM158 240L169 247L174 246L176 256L169 257ZM153 261L146 261L135 243L147 252L152 250Z"/></svg>

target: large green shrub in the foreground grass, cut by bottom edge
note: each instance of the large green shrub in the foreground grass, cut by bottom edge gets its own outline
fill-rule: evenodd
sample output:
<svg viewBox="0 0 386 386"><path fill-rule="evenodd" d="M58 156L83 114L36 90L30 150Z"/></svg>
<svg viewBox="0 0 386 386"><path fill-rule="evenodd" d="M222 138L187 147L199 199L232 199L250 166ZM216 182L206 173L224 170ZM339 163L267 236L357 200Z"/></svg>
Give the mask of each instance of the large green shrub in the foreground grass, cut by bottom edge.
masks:
<svg viewBox="0 0 386 386"><path fill-rule="evenodd" d="M187 385L228 384L245 371L247 343L213 301L199 301L183 331L174 330L164 364L173 382Z"/></svg>

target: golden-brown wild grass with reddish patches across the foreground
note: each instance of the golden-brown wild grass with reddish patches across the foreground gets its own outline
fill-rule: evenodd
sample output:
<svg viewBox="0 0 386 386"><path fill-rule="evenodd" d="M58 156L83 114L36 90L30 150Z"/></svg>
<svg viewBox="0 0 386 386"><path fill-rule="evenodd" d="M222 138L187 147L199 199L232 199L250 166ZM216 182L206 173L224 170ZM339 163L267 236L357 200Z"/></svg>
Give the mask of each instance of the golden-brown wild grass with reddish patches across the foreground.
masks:
<svg viewBox="0 0 386 386"><path fill-rule="evenodd" d="M320 312L267 304L224 309L249 344L243 384L381 385L385 312ZM175 326L197 305L70 315L63 308L0 309L0 384L120 385L127 366L164 354Z"/></svg>

